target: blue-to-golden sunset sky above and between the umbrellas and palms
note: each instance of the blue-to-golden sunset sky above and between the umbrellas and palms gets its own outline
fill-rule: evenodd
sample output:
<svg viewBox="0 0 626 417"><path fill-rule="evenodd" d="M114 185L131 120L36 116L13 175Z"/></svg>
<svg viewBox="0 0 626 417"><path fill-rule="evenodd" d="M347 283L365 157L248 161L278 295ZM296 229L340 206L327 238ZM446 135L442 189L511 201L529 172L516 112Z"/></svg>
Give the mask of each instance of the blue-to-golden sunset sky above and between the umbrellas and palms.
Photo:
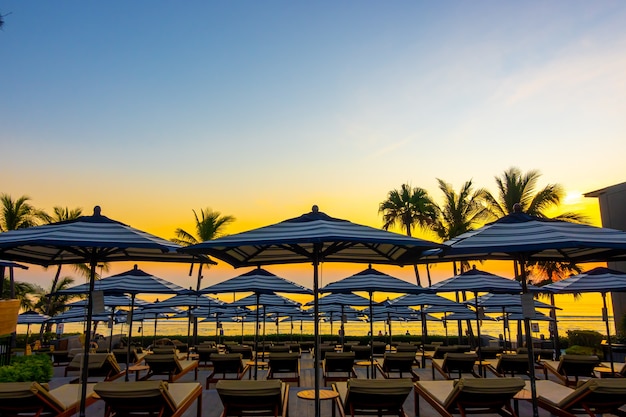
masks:
<svg viewBox="0 0 626 417"><path fill-rule="evenodd" d="M237 219L228 233L313 204L381 227L403 183L439 201L437 178L495 192L515 166L600 225L582 194L625 181L621 1L0 0L0 14L0 192L47 211L100 205L168 239L206 207ZM311 285L310 266L268 269Z"/></svg>

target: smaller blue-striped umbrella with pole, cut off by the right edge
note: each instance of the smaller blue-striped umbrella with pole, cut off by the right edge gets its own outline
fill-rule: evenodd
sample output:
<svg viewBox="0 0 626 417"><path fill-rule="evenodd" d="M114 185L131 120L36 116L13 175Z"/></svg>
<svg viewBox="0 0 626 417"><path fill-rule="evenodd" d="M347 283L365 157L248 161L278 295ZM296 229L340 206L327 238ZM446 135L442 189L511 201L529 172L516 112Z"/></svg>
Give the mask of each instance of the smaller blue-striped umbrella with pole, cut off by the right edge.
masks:
<svg viewBox="0 0 626 417"><path fill-rule="evenodd" d="M572 275L561 281L544 285L542 289L555 294L599 292L602 295L602 320L604 320L606 324L606 338L609 348L609 359L611 361L611 372L615 373L606 294L610 292L626 292L626 273L614 269L598 267L581 274Z"/></svg>

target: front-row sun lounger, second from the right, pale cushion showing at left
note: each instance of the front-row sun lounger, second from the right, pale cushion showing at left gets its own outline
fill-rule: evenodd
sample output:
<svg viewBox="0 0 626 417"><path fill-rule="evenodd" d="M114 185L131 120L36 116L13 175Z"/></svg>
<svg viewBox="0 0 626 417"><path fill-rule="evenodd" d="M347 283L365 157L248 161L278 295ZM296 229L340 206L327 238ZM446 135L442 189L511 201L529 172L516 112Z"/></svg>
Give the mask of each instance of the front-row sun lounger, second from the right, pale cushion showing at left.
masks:
<svg viewBox="0 0 626 417"><path fill-rule="evenodd" d="M415 383L415 415L419 417L421 397L444 417L455 413L516 416L511 400L524 387L524 380L518 377L418 381Z"/></svg>

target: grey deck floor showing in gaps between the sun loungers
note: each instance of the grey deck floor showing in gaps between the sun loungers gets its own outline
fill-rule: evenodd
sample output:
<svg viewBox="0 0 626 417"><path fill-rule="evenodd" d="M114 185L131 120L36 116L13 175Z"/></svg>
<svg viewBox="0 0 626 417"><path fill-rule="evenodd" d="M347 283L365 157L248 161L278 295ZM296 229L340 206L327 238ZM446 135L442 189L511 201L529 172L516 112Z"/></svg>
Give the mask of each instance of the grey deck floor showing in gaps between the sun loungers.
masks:
<svg viewBox="0 0 626 417"><path fill-rule="evenodd" d="M63 377L64 366L56 366L55 367L55 377L50 383L51 388L55 388L56 386L62 385L64 383L68 383L69 380L73 379L72 377ZM415 368L416 372L420 376L420 379L423 381L432 380L432 373L430 368L430 363L426 364L426 368ZM366 378L366 369L364 367L355 367L355 370L358 374L359 378ZM209 375L208 369L200 368L200 372L198 374L198 382L204 387L206 384L206 378ZM254 376L254 371L252 371L252 375ZM260 369L258 371L258 379L264 379L267 375L266 370ZM487 375L488 377L493 377L490 373ZM246 375L247 377L247 375ZM381 377L377 375L377 377ZM537 375L538 378L543 378L543 373ZM75 378L75 377L74 377ZM131 380L134 377L131 376ZM437 379L442 379L441 376L437 376ZM189 374L182 377L180 382L193 382L194 374L190 372ZM320 384L323 384L323 380L320 376ZM290 392L289 392L289 416L291 417L314 417L315 408L314 402L309 400L304 400L299 398L296 394L299 390L304 389L312 389L315 386L314 381L314 373L313 373L313 359L311 354L303 353L301 359L301 386L297 387L295 384L290 384ZM214 387L214 386L213 386ZM331 406L334 404L333 401L322 401L320 406L320 414L321 416L331 416L332 409ZM404 411L407 413L409 417L415 416L415 408L414 408L414 396L410 394L404 404ZM204 389L203 397L202 397L202 416L203 417L219 417L223 410L221 401L215 388L212 389ZM91 416L104 416L104 402L97 401L93 405L87 408L86 415ZM420 416L421 417L436 417L439 414L433 410L430 405L428 405L425 401L420 401ZM494 414L497 415L497 414ZM519 417L532 416L532 407L529 402L520 401L519 406ZM550 413L539 409L540 417L548 417ZM184 414L183 417L196 417L196 407L195 405L190 407Z"/></svg>

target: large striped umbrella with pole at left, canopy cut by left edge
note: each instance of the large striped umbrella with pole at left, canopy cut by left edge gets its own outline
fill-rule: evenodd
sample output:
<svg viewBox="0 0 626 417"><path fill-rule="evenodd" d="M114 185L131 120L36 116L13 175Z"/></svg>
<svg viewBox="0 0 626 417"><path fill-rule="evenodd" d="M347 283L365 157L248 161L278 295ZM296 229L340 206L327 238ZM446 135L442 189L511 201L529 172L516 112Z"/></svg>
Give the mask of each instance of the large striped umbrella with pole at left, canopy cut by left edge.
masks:
<svg viewBox="0 0 626 417"><path fill-rule="evenodd" d="M115 261L201 262L213 263L208 258L194 258L178 252L180 246L134 229L103 216L100 206L92 216L74 220L11 230L0 233L0 257L37 265L87 263L90 266L89 294L93 292L98 263ZM90 303L90 306L92 304ZM87 314L87 328L91 328L91 307ZM85 355L81 382L87 380L91 331L85 335ZM81 388L80 417L85 416L87 384Z"/></svg>

